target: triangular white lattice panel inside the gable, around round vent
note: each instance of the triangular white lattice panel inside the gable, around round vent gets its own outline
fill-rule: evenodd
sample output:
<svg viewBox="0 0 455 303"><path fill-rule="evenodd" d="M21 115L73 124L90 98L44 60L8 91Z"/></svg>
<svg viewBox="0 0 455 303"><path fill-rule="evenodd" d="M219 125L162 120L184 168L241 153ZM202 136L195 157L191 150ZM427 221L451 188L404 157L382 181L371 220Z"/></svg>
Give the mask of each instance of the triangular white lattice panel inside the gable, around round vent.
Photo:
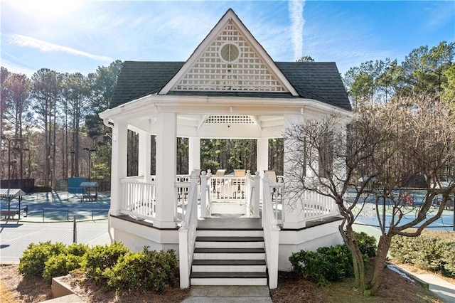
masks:
<svg viewBox="0 0 455 303"><path fill-rule="evenodd" d="M226 45L237 47L231 56ZM232 21L172 90L287 92Z"/></svg>

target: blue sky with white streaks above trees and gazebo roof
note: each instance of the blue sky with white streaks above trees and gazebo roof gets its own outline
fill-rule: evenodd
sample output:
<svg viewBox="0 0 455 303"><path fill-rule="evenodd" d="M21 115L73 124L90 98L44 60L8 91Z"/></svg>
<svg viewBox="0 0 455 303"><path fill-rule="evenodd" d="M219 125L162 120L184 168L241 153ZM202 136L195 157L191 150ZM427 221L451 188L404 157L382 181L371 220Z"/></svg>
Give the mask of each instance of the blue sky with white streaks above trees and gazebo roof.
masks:
<svg viewBox="0 0 455 303"><path fill-rule="evenodd" d="M184 61L229 8L272 59L310 55L341 73L366 60L401 62L455 41L455 1L2 0L1 66L95 72L113 60Z"/></svg>

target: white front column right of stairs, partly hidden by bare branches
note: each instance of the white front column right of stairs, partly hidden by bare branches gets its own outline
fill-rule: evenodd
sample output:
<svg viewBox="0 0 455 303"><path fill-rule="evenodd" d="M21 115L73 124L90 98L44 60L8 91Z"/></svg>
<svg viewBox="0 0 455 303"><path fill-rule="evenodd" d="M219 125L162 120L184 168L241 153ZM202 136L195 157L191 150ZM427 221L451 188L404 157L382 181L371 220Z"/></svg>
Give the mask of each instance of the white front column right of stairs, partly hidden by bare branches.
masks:
<svg viewBox="0 0 455 303"><path fill-rule="evenodd" d="M304 123L303 115L284 115L284 128L288 129L293 127L295 124L302 124ZM284 140L284 195L283 195L283 228L300 228L301 220L303 218L303 208L299 201L295 201L295 196L293 193L289 193L287 191L286 184L291 182L291 180L287 177L291 172L291 167L286 161L286 154L289 153L290 149L289 140ZM289 197L294 197L292 201L290 201Z"/></svg>

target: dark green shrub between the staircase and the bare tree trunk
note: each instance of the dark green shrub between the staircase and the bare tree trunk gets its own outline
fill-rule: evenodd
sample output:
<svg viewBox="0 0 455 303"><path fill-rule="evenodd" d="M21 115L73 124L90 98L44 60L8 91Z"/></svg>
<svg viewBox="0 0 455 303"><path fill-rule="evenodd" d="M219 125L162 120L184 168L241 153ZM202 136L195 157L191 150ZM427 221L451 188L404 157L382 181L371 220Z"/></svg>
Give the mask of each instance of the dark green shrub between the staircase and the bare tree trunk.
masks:
<svg viewBox="0 0 455 303"><path fill-rule="evenodd" d="M316 252L301 250L289 257L299 275L314 280L321 286L353 276L353 261L346 245L323 247Z"/></svg>

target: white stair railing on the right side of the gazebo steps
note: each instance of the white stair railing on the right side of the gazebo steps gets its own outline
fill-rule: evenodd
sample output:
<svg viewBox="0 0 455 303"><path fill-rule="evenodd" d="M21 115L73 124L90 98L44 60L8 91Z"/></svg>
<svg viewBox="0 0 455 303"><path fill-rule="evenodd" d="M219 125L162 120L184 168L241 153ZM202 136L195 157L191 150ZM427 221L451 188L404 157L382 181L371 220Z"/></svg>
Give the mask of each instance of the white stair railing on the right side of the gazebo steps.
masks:
<svg viewBox="0 0 455 303"><path fill-rule="evenodd" d="M278 286L278 252L279 252L279 230L278 220L274 215L272 204L272 188L269 185L269 176L264 175L262 182L264 188L262 196L262 228L264 229L265 258L267 270L269 271L269 288Z"/></svg>

